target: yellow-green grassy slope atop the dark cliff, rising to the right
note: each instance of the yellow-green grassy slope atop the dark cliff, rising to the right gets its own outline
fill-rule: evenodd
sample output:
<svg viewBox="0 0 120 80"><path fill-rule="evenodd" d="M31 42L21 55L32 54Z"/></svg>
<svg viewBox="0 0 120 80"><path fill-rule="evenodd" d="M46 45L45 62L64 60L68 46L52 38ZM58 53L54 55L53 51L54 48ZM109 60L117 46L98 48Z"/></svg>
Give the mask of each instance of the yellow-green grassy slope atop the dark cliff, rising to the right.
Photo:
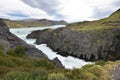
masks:
<svg viewBox="0 0 120 80"><path fill-rule="evenodd" d="M111 14L108 18L97 21L84 21L68 25L75 31L106 30L111 28L120 28L120 9Z"/></svg>

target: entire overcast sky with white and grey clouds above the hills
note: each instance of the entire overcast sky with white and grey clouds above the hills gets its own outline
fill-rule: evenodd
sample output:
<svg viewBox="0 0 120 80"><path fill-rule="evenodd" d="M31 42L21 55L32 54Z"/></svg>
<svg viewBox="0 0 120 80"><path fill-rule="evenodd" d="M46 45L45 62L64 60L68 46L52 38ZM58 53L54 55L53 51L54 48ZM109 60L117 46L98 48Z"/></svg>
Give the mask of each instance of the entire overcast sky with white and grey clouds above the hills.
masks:
<svg viewBox="0 0 120 80"><path fill-rule="evenodd" d="M120 8L120 0L0 0L0 18L96 20Z"/></svg>

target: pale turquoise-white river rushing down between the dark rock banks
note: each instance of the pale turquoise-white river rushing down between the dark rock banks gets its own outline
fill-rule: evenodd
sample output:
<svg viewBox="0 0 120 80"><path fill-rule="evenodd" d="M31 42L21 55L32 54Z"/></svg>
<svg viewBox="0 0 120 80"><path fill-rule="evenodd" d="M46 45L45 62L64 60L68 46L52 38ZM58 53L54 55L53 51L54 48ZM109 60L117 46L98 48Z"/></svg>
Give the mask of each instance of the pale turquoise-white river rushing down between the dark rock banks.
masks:
<svg viewBox="0 0 120 80"><path fill-rule="evenodd" d="M66 69L80 68L85 64L91 64L91 62L85 62L84 60L74 58L72 56L63 57L59 54L56 54L57 52L52 51L52 49L47 47L46 44L36 45L34 44L34 42L36 41L35 39L26 39L26 36L30 34L31 31L43 30L47 28L56 29L61 26L64 27L64 25L55 25L55 26L50 26L50 27L13 28L13 29L10 29L10 31L16 36L18 36L19 38L26 41L28 44L32 44L36 46L36 48L38 48L44 54L46 54L50 60L53 60L54 58L57 57L61 61L61 63L65 66Z"/></svg>

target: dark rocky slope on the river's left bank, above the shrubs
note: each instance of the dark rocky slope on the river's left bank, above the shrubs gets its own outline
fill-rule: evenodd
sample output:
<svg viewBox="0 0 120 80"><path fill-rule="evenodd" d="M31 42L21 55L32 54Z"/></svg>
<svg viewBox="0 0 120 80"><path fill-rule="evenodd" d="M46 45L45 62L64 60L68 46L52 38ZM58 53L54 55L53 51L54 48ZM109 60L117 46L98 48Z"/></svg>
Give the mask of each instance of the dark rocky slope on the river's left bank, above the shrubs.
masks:
<svg viewBox="0 0 120 80"><path fill-rule="evenodd" d="M7 51L10 48L15 48L19 45L25 46L26 54L32 58L46 58L41 51L37 50L34 46L28 45L26 42L10 33L9 28L0 19L0 44L4 46L4 50Z"/></svg>

